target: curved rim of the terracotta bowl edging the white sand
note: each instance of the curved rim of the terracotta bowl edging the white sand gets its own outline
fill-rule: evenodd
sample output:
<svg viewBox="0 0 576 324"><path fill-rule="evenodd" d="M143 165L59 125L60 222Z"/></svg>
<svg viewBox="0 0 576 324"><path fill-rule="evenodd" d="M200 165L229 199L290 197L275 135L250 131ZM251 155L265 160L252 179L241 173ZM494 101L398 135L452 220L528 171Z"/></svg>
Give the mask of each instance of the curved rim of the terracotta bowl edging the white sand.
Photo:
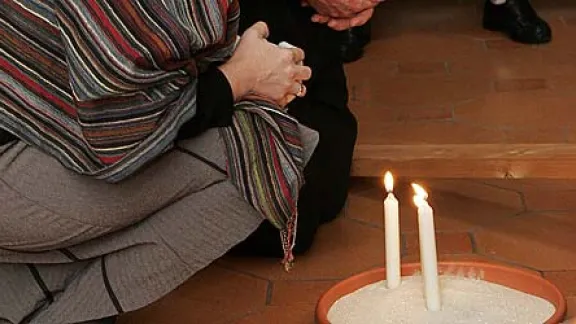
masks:
<svg viewBox="0 0 576 324"><path fill-rule="evenodd" d="M450 269L451 267L454 267L454 268L461 267L461 268L493 269L493 270L497 270L497 271L507 272L510 274L522 275L524 277L531 277L532 279L534 279L534 280L540 282L541 284L547 286L547 289L549 289L550 292L552 292L554 294L555 299L558 301L558 305L554 305L554 306L556 306L556 311L554 312L554 314L552 314L552 316L544 324L560 323L564 319L564 317L566 316L566 311L567 311L566 298L564 297L564 295L562 294L560 289L555 284L553 284L550 280L544 278L542 275L538 275L538 274L534 273L534 271L530 271L530 270L527 270L524 268L511 266L511 265L505 265L505 264L499 264L499 263L490 263L490 262L483 262L483 261L442 261L442 262L438 262L438 267L443 268L443 269ZM402 272L414 270L414 269L419 269L419 268L420 268L420 262L410 262L410 263L403 263L402 264ZM322 293L322 295L318 299L318 302L316 303L316 309L315 309L316 323L317 324L330 324L330 321L328 321L328 312L330 311L330 308L332 307L332 305L334 305L334 303L338 300L338 299L336 299L335 301L333 301L331 303L327 300L328 296L333 291L338 290L341 287L345 287L345 286L349 285L351 282L357 281L357 280L362 279L364 277L371 277L375 274L380 274L380 273L382 273L384 275L384 278L385 278L386 268L385 267L374 268L374 269L370 269L367 271L357 273L357 274L349 276L343 280L340 280L336 284L332 285L328 290L324 291L324 293ZM378 281L378 280L370 281L370 282L366 283L366 285L372 284L376 281ZM489 280L487 280L487 281L489 281ZM504 285L504 286L506 286L506 285ZM512 288L512 287L510 287L510 288ZM360 289L360 288L357 288L356 290L358 290L358 289ZM356 290L354 290L354 291L356 291ZM339 297L339 298L341 298L341 297ZM553 303L550 299L547 299L547 300L549 302Z"/></svg>

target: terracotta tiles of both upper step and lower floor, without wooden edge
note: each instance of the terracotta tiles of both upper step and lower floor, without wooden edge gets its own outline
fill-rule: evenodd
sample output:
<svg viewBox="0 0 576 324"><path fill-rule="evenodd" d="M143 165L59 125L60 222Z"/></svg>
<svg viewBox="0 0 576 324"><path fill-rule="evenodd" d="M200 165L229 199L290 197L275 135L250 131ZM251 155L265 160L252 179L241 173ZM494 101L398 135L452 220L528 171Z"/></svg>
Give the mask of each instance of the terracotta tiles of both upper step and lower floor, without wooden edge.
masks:
<svg viewBox="0 0 576 324"><path fill-rule="evenodd" d="M554 29L548 46L483 31L471 0L382 5L366 58L347 68L359 144L576 144L576 5L534 2ZM473 167L461 178L418 179L436 210L440 258L537 271L560 285L576 315L576 180L467 179ZM403 180L403 257L414 261L417 224ZM292 273L278 260L224 257L121 323L313 323L324 290L383 264L380 187L356 178L342 216L321 228Z"/></svg>

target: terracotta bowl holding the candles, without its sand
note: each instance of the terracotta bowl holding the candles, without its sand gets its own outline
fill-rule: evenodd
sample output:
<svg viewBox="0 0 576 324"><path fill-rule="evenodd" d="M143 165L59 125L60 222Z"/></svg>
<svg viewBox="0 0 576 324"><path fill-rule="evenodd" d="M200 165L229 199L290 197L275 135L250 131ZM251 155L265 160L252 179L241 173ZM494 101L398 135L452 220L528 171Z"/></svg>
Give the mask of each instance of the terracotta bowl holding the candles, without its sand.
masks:
<svg viewBox="0 0 576 324"><path fill-rule="evenodd" d="M439 262L438 272L452 273L463 271L463 273L482 273L483 280L507 286L534 296L544 298L556 306L556 312L545 324L558 324L566 315L566 300L558 288L550 281L526 270L507 267L504 265L483 263L483 262ZM402 265L402 275L410 276L420 272L419 263L409 263ZM330 324L328 321L328 311L330 307L354 291L386 279L384 268L378 268L360 273L345 279L328 291L326 291L318 301L316 306L316 321L318 324Z"/></svg>

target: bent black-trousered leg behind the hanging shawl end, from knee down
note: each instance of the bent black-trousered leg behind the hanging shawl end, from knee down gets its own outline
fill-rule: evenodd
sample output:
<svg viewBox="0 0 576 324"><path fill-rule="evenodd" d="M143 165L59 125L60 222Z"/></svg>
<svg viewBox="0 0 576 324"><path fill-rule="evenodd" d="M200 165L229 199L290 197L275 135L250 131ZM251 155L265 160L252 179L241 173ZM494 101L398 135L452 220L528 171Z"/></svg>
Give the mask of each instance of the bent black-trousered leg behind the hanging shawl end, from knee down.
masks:
<svg viewBox="0 0 576 324"><path fill-rule="evenodd" d="M336 218L344 207L357 126L349 111L336 111L327 105L297 107L291 112L320 133L320 143L304 170L306 183L298 200L294 253L301 254L312 246L318 227ZM282 256L278 229L264 221L232 253Z"/></svg>

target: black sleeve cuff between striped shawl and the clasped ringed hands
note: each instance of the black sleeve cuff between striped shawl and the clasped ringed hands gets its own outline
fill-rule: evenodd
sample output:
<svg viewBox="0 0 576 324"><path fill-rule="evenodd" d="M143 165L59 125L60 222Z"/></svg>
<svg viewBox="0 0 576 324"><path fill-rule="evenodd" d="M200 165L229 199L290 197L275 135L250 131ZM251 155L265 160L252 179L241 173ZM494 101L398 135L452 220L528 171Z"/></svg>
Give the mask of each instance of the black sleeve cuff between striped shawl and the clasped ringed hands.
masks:
<svg viewBox="0 0 576 324"><path fill-rule="evenodd" d="M232 124L234 95L228 79L216 66L198 76L196 115L178 132L178 139L197 136L209 128Z"/></svg>

